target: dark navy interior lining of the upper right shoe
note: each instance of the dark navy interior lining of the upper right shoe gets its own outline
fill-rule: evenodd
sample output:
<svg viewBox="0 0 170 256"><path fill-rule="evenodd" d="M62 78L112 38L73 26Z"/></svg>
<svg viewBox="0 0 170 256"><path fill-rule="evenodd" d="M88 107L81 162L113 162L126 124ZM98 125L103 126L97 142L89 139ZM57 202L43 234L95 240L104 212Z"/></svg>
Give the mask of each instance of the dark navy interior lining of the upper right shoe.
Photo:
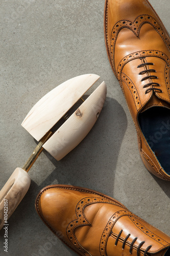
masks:
<svg viewBox="0 0 170 256"><path fill-rule="evenodd" d="M160 165L170 175L170 110L154 106L140 113L138 121Z"/></svg>

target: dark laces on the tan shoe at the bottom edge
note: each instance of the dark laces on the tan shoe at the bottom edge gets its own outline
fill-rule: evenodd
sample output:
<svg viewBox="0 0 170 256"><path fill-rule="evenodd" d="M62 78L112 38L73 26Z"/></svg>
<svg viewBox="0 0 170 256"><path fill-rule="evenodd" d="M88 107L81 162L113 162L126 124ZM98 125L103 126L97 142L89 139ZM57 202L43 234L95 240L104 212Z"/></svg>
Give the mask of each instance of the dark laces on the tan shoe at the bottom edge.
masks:
<svg viewBox="0 0 170 256"><path fill-rule="evenodd" d="M116 238L115 245L117 245L117 242L118 242L118 240L119 240L119 238L120 238L122 232L123 232L123 230L120 230L120 232L119 232L119 234L118 234L118 236L117 236L117 238ZM122 245L122 249L125 248L126 241L128 240L128 238L129 238L130 236L131 236L131 234L128 234L128 235L126 236L126 238L125 238L125 240L124 240L124 242L123 242L123 245ZM134 245L134 243L136 242L136 240L137 240L137 238L134 238L133 241L132 241L132 243L131 243L131 246L130 246L130 249L129 249L130 254L132 254L132 248L133 248L133 245ZM141 246L142 246L144 243L145 243L145 241L142 241L142 242L138 245L138 248L137 248L137 256L139 256L139 250L140 250ZM151 249L151 247L152 247L152 245L148 246L148 247L145 249L143 256L146 256L146 255L147 255L147 252Z"/></svg>

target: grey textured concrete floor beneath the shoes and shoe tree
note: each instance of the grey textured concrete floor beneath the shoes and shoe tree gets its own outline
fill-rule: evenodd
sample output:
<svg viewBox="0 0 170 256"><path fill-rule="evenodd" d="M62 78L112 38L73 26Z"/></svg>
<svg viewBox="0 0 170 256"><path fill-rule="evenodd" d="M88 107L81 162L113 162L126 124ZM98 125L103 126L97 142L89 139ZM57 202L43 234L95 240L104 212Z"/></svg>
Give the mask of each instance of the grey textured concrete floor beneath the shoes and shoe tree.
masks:
<svg viewBox="0 0 170 256"><path fill-rule="evenodd" d="M150 1L170 31L169 0ZM34 201L50 184L101 191L170 236L169 182L152 176L138 154L124 95L111 70L104 42L104 0L1 0L1 179L22 167L36 142L21 127L32 106L61 82L86 73L107 84L104 109L88 136L61 161L42 153L29 174L30 189L4 230L0 255L76 255L39 219Z"/></svg>

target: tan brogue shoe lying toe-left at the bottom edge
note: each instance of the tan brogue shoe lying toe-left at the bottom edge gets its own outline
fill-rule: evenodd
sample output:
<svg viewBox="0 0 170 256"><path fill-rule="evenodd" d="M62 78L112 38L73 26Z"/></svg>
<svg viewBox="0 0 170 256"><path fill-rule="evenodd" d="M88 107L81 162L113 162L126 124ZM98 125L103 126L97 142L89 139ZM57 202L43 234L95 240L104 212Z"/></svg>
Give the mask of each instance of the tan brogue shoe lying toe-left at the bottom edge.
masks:
<svg viewBox="0 0 170 256"><path fill-rule="evenodd" d="M47 227L79 255L170 255L170 237L96 191L47 186L35 207Z"/></svg>

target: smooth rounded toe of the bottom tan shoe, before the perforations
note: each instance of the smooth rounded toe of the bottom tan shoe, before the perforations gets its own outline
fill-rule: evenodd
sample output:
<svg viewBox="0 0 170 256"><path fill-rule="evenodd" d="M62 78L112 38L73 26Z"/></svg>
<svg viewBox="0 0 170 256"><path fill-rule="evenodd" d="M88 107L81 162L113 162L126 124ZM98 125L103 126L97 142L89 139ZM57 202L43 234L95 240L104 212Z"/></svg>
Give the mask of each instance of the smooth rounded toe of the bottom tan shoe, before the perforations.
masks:
<svg viewBox="0 0 170 256"><path fill-rule="evenodd" d="M75 218L70 202L70 192L57 187L44 188L37 196L38 215L57 236L65 237L68 223Z"/></svg>

